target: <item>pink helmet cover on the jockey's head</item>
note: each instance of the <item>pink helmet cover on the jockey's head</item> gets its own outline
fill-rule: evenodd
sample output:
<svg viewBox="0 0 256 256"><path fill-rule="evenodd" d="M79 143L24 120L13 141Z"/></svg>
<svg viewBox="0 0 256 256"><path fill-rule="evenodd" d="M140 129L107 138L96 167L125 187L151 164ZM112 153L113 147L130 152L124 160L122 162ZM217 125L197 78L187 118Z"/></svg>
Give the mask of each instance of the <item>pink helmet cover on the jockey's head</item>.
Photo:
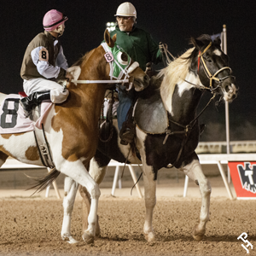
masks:
<svg viewBox="0 0 256 256"><path fill-rule="evenodd" d="M44 15L43 26L46 31L53 31L67 20L67 16L63 15L56 9L51 9Z"/></svg>

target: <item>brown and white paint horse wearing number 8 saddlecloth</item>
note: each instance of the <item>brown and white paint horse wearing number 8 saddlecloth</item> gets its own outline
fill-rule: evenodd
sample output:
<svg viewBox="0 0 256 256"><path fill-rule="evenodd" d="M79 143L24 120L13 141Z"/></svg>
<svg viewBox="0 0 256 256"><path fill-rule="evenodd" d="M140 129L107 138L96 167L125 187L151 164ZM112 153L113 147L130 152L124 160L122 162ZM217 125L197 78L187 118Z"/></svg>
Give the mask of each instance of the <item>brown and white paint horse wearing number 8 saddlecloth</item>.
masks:
<svg viewBox="0 0 256 256"><path fill-rule="evenodd" d="M96 154L98 119L105 91L110 86L108 82L111 82L115 72L112 64L116 63L124 72L119 79L125 77L127 81L133 80L136 90L148 86L149 81L148 76L138 67L138 63L131 61L129 55L117 48L116 37L110 38L108 30L104 33L104 39L106 43L92 49L76 64L80 73L79 81L75 80L67 84L69 90L67 101L53 104L49 111L44 123L44 131L55 163L55 171L50 172L44 181L38 184L49 183L51 177L56 177L61 172L67 175L65 190L67 194L67 189L78 189L78 184L87 189L91 198L91 208L88 229L84 232L83 238L84 241L89 242L93 241L96 234L97 207L101 192L98 184L90 177L88 166L90 159ZM110 55L112 49L116 50L116 55ZM108 60L112 57L114 60ZM84 84L86 80L93 84ZM108 80L107 84L102 84L106 80ZM3 94L1 98L3 99ZM41 145L44 143L44 137L41 131L36 132L38 143ZM0 166L9 156L27 164L43 166L33 131L0 135ZM64 208L69 201L74 201L74 197L65 196ZM66 212L64 216L70 218ZM62 230L62 237L68 239L66 236L68 232L69 230Z"/></svg>

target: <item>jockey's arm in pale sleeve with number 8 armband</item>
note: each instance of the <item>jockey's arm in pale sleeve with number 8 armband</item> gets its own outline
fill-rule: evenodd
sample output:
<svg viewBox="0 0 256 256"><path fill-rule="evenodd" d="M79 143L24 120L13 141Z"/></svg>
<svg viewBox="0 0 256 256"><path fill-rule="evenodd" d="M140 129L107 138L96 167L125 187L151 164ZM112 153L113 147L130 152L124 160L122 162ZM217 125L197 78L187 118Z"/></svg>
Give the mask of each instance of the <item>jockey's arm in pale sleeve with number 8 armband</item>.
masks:
<svg viewBox="0 0 256 256"><path fill-rule="evenodd" d="M33 49L31 52L32 61L37 66L38 73L40 73L42 76L44 76L45 79L65 78L66 70L64 68L58 67L58 66L54 67L54 66L50 65L49 61L47 59L46 60L39 59L39 52L43 48L44 48L43 46L39 46L39 47ZM65 58L65 60L66 60L66 58ZM63 65L63 63L61 63L61 64Z"/></svg>

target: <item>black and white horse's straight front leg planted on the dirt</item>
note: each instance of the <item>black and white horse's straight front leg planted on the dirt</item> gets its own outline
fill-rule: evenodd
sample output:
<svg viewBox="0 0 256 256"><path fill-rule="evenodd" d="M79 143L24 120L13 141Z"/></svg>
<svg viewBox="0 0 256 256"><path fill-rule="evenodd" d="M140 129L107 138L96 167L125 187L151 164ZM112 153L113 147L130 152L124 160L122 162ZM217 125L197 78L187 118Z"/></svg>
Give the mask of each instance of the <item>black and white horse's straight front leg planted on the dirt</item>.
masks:
<svg viewBox="0 0 256 256"><path fill-rule="evenodd" d="M154 241L154 229L152 225L153 211L156 204L156 181L151 166L147 166L143 161L143 183L144 183L144 198L146 207L146 216L144 223L144 236L147 241Z"/></svg>

